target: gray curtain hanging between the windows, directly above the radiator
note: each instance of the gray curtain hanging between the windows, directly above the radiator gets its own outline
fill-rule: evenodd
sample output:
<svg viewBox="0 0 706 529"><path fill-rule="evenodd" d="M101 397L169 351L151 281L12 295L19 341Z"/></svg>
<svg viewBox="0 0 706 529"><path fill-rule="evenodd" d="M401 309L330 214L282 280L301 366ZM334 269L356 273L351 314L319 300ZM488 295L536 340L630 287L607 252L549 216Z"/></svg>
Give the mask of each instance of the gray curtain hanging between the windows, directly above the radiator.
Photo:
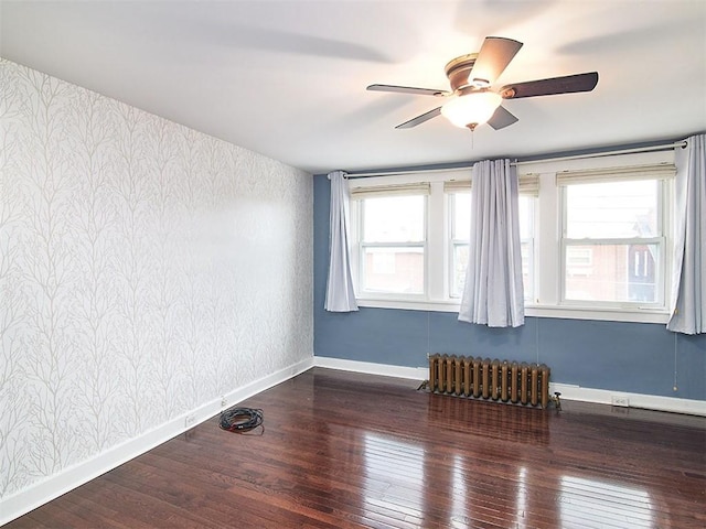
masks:
<svg viewBox="0 0 706 529"><path fill-rule="evenodd" d="M489 327L524 325L517 171L510 160L472 170L471 238L459 320Z"/></svg>

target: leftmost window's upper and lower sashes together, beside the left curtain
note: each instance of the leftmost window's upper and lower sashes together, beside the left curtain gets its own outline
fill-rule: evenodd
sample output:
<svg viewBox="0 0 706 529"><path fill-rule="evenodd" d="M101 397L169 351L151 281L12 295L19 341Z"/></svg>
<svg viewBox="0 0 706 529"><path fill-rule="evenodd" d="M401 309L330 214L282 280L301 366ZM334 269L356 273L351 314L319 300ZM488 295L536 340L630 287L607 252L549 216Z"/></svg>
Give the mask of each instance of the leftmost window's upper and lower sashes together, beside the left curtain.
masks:
<svg viewBox="0 0 706 529"><path fill-rule="evenodd" d="M360 202L361 292L425 294L426 196L398 194Z"/></svg>

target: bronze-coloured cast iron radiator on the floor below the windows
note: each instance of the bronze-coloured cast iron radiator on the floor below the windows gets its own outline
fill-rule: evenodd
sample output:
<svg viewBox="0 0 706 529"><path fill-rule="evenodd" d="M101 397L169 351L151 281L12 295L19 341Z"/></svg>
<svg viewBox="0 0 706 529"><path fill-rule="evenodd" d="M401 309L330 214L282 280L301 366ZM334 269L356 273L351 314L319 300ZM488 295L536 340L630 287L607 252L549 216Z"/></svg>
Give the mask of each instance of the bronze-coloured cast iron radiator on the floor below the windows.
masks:
<svg viewBox="0 0 706 529"><path fill-rule="evenodd" d="M430 391L546 408L549 373L544 364L468 356L429 356Z"/></svg>

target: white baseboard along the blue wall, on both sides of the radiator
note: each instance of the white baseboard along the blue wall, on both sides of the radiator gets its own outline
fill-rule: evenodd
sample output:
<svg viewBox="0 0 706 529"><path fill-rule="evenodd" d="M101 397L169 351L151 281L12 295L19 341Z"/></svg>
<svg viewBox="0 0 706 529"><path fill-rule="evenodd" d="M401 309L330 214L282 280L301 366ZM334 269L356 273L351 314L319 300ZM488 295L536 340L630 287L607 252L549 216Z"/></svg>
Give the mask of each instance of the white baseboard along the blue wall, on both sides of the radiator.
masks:
<svg viewBox="0 0 706 529"><path fill-rule="evenodd" d="M328 367L344 371L365 373L370 375L383 375L387 377L411 378L426 380L429 375L427 367L403 367L386 364L374 364L370 361L344 360L341 358L329 358L315 356L313 358L317 367ZM608 389L582 388L570 384L552 382L549 391L561 393L561 400L578 400L581 402L595 402L598 404L613 404L613 398L629 402L627 408L642 408L646 410L668 411L672 413L686 413L689 415L706 415L706 401L678 399L676 397L660 397L656 395L628 393L624 391L612 391ZM627 399L627 400L624 400ZM623 406L624 407L624 406Z"/></svg>

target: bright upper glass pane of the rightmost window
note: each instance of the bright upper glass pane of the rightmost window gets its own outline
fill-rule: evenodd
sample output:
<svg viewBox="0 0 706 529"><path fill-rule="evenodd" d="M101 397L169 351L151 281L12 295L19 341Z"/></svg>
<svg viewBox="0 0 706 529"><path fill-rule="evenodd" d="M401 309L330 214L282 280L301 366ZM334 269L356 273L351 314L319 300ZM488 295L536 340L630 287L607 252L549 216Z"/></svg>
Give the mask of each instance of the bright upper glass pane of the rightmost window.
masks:
<svg viewBox="0 0 706 529"><path fill-rule="evenodd" d="M656 180L566 186L566 237L659 237Z"/></svg>

